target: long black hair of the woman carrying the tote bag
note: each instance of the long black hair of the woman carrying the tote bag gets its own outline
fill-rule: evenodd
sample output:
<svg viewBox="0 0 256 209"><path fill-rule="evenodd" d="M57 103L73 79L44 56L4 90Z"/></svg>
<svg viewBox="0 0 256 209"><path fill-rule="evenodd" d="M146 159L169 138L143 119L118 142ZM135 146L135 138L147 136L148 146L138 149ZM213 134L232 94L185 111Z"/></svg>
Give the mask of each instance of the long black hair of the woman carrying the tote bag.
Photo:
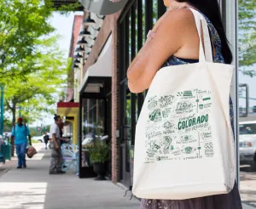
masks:
<svg viewBox="0 0 256 209"><path fill-rule="evenodd" d="M205 14L207 18L212 22L212 25L218 31L218 36L221 40L221 53L224 56L226 64L232 62L233 56L230 50L229 42L227 40L224 25L221 20L220 8L217 0L176 0L179 3L189 3Z"/></svg>

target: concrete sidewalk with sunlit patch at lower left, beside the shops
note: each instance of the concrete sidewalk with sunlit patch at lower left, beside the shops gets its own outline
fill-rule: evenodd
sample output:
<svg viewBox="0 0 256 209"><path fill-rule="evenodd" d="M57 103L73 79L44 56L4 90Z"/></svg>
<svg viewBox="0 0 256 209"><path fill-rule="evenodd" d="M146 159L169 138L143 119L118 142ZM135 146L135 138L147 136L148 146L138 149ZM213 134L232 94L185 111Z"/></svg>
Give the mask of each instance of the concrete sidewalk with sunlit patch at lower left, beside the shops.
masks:
<svg viewBox="0 0 256 209"><path fill-rule="evenodd" d="M44 144L36 148L39 152L26 169L17 170L16 160L1 164L9 167L0 174L1 209L139 209L137 199L129 201L131 193L123 197L125 190L109 181L80 179L72 169L49 175L49 151Z"/></svg>

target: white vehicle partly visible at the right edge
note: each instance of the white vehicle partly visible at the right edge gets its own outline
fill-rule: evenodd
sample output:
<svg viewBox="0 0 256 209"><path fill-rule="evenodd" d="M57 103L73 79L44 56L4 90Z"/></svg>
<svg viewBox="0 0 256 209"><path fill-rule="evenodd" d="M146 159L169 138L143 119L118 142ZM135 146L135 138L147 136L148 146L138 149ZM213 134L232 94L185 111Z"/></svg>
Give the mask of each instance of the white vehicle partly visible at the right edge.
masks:
<svg viewBox="0 0 256 209"><path fill-rule="evenodd" d="M256 121L239 123L240 165L250 165L256 171Z"/></svg>

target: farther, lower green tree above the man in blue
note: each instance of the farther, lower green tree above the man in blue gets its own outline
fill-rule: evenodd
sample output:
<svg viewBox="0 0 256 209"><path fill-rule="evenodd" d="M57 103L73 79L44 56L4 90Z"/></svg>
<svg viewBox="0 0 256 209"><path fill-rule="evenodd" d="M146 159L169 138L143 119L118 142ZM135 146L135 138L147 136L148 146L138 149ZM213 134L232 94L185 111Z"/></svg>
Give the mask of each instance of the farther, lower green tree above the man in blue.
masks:
<svg viewBox="0 0 256 209"><path fill-rule="evenodd" d="M58 100L58 93L66 85L66 63L57 49L49 51L52 53L41 55L36 61L28 59L26 65L19 65L19 71L27 71L26 68L33 65L33 73L5 81L5 102L13 122L18 106L22 107L22 115L29 122L36 120L40 112L52 110L52 105Z"/></svg>

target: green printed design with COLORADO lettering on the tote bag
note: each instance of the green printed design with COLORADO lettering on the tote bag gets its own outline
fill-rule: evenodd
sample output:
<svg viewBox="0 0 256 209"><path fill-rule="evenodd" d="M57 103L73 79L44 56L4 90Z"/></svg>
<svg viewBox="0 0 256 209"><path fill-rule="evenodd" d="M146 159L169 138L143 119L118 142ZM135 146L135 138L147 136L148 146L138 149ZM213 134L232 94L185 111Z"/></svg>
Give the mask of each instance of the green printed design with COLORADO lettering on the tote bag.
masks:
<svg viewBox="0 0 256 209"><path fill-rule="evenodd" d="M148 98L145 163L214 156L211 91L193 89Z"/></svg>

